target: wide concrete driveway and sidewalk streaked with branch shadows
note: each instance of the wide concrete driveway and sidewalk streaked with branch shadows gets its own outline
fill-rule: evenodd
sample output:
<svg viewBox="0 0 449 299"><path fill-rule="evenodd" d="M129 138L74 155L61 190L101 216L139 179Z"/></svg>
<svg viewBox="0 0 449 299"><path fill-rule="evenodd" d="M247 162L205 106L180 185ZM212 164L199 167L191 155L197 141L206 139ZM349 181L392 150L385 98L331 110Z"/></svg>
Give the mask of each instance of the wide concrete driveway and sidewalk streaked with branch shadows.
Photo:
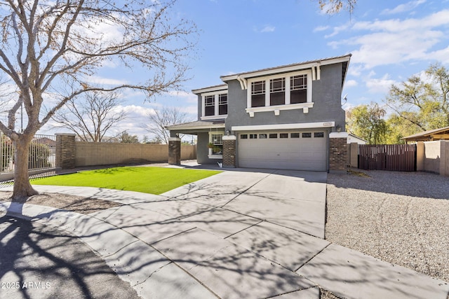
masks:
<svg viewBox="0 0 449 299"><path fill-rule="evenodd" d="M445 281L323 239L326 177L235 169L162 195L36 186L124 205L89 215L9 203L0 211L81 238L143 298L319 298L322 287L345 298L445 299Z"/></svg>

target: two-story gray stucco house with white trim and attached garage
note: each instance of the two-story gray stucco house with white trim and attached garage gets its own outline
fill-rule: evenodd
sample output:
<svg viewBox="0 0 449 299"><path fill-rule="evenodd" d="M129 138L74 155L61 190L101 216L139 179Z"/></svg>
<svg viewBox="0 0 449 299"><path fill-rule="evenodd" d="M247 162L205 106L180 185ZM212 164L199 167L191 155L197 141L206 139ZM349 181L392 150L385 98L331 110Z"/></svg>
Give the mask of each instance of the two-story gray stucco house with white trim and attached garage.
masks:
<svg viewBox="0 0 449 299"><path fill-rule="evenodd" d="M170 136L197 135L199 163L343 169L348 134L341 97L350 58L344 55L221 76L225 84L192 90L198 95L198 120L167 127ZM170 141L169 157L175 159L179 139Z"/></svg>

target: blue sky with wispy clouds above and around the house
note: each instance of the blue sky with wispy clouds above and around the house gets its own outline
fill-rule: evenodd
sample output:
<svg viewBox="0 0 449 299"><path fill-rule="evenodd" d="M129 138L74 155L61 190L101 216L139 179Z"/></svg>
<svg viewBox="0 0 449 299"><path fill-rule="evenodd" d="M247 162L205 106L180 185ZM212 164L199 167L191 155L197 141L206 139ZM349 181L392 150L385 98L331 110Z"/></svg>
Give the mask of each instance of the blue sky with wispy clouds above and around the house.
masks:
<svg viewBox="0 0 449 299"><path fill-rule="evenodd" d="M316 2L178 0L173 18L192 20L199 29L187 74L192 79L184 90L151 103L139 93L124 94L129 118L118 129L142 138L145 114L160 106L178 106L196 119L196 96L190 90L221 84L220 76L243 71L352 53L343 90L344 108L350 108L382 102L391 84L420 74L431 63L449 67L449 0L358 0L352 15L326 15ZM108 69L101 79L121 76L120 69ZM136 70L133 76L145 74Z"/></svg>

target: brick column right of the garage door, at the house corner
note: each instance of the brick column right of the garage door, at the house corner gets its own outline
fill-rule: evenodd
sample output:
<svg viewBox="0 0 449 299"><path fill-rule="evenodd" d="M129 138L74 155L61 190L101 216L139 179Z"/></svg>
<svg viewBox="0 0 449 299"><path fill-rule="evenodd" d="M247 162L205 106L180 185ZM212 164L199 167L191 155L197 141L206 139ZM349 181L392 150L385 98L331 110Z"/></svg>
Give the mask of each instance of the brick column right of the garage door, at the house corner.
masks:
<svg viewBox="0 0 449 299"><path fill-rule="evenodd" d="M329 171L342 172L347 170L348 150L347 132L329 134Z"/></svg>

